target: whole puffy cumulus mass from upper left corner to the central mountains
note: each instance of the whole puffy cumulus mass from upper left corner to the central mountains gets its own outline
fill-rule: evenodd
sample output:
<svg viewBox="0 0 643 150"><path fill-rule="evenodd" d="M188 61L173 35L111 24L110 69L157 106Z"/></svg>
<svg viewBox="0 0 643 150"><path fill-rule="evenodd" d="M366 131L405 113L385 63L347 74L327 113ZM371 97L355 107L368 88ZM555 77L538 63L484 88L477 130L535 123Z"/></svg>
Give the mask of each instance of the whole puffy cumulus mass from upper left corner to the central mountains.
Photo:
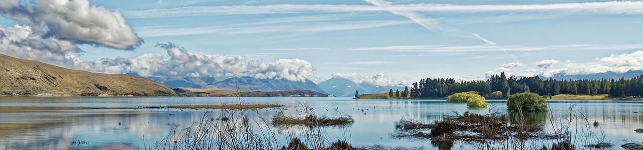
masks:
<svg viewBox="0 0 643 150"><path fill-rule="evenodd" d="M280 59L271 63L247 62L243 56L189 53L173 43L157 44L163 54L142 54L129 58L83 60L78 44L130 51L143 42L118 11L89 6L86 0L37 0L23 5L18 0L0 3L1 15L21 24L0 26L0 53L37 60L70 69L125 73L140 76L251 76L291 81L315 79L311 63Z"/></svg>

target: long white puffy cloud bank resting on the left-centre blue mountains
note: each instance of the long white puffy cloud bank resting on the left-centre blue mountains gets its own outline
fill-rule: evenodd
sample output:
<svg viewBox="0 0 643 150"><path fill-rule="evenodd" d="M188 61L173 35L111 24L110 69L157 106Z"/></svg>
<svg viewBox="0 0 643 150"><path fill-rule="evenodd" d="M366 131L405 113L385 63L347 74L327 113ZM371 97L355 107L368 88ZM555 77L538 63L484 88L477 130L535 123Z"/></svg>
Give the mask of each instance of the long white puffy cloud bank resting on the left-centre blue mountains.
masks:
<svg viewBox="0 0 643 150"><path fill-rule="evenodd" d="M136 72L140 76L232 77L251 76L261 79L314 79L315 70L306 60L280 59L271 63L246 62L243 56L196 54L173 43L157 44L167 51L162 54L143 54L129 58L101 60L104 66L117 66L120 72Z"/></svg>

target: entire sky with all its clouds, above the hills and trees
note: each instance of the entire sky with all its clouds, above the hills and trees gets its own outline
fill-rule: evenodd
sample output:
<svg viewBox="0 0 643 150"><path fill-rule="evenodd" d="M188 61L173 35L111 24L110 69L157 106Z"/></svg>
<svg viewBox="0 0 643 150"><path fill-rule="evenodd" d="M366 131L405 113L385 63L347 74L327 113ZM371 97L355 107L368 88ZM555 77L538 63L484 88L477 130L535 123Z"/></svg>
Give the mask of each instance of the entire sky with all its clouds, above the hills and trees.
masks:
<svg viewBox="0 0 643 150"><path fill-rule="evenodd" d="M643 1L6 1L0 53L93 72L395 85L643 70Z"/></svg>

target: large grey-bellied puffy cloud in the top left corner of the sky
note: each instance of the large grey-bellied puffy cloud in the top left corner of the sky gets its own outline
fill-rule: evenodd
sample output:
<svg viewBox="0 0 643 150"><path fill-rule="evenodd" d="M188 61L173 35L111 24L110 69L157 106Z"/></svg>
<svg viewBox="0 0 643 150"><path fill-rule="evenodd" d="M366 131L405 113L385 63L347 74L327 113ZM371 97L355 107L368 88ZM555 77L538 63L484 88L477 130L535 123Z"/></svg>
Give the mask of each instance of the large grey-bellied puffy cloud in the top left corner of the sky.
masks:
<svg viewBox="0 0 643 150"><path fill-rule="evenodd" d="M0 13L31 26L33 34L114 49L135 49L139 38L120 12L89 6L87 0L37 0L23 5L18 0L0 4Z"/></svg>

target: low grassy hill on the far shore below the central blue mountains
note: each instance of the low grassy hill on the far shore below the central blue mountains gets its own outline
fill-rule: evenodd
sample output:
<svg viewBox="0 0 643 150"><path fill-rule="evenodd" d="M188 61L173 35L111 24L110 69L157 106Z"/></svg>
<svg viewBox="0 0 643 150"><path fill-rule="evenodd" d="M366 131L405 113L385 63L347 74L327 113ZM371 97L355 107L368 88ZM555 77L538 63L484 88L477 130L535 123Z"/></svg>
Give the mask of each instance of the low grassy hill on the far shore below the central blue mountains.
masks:
<svg viewBox="0 0 643 150"><path fill-rule="evenodd" d="M220 89L190 89L198 96L243 96L243 97L327 97L328 94L312 90L280 90L280 91L249 91L249 90L220 90Z"/></svg>

